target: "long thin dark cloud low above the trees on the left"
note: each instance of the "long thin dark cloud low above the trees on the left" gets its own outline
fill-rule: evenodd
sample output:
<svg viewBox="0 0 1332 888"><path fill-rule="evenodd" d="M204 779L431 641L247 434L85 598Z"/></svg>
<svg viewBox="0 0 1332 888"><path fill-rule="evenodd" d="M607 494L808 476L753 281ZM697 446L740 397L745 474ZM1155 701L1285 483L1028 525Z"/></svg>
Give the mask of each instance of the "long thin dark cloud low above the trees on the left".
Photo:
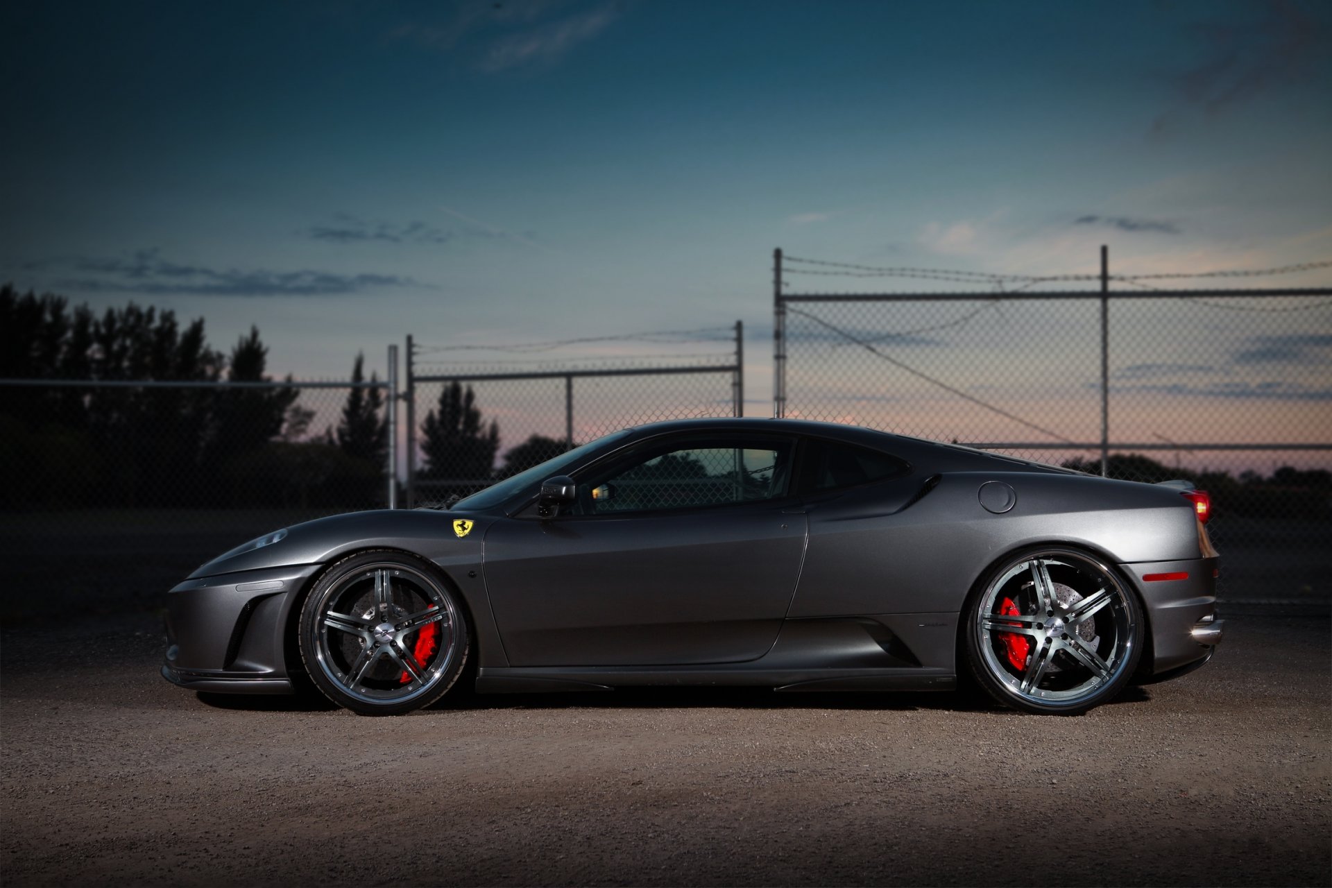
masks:
<svg viewBox="0 0 1332 888"><path fill-rule="evenodd" d="M95 293L141 293L145 296L345 296L393 286L421 286L398 274L342 274L304 269L213 269L181 265L159 256L159 250L137 250L125 258L67 257L28 262L29 270L53 269L65 277L56 285Z"/></svg>

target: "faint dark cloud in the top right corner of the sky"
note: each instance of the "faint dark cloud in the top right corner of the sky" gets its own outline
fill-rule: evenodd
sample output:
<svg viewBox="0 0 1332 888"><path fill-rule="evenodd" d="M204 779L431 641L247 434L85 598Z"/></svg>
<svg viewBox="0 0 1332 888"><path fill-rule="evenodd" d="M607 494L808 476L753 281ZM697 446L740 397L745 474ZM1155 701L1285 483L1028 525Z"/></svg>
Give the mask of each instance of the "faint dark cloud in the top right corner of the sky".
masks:
<svg viewBox="0 0 1332 888"><path fill-rule="evenodd" d="M1173 77L1173 88L1185 108L1220 114L1280 88L1312 80L1315 63L1327 52L1328 31L1288 0L1268 0L1263 8L1265 13L1256 20L1211 20L1193 25L1207 52L1199 64ZM1162 113L1152 132L1167 132L1179 114L1179 109Z"/></svg>

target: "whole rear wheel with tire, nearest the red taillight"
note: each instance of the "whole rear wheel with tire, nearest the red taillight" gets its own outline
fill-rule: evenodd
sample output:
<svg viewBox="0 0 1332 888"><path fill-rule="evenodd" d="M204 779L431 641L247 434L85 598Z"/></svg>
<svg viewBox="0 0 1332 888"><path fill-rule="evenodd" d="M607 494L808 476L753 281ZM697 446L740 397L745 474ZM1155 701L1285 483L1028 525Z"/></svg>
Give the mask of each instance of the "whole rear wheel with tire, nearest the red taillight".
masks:
<svg viewBox="0 0 1332 888"><path fill-rule="evenodd" d="M995 566L963 611L967 663L999 703L1079 715L1130 683L1146 636L1134 587L1098 556L1042 546Z"/></svg>

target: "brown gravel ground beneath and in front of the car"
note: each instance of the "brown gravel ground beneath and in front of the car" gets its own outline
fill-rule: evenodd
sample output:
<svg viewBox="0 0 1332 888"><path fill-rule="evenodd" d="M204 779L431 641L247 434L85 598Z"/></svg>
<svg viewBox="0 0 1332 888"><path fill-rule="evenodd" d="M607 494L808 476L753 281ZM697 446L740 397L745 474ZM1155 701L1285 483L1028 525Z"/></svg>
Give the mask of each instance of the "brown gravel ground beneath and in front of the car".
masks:
<svg viewBox="0 0 1332 888"><path fill-rule="evenodd" d="M3 635L0 879L1332 884L1325 618L1082 718L954 694L617 691L366 719L200 698L151 616Z"/></svg>

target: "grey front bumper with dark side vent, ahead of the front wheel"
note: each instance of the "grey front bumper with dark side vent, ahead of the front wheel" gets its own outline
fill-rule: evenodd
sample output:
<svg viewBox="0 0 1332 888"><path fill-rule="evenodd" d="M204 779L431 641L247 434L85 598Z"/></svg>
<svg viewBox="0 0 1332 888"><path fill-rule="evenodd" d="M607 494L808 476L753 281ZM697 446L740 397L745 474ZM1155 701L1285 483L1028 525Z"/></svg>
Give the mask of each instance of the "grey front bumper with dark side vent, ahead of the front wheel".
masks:
<svg viewBox="0 0 1332 888"><path fill-rule="evenodd" d="M193 691L292 694L286 627L318 564L186 579L166 594L161 675Z"/></svg>

